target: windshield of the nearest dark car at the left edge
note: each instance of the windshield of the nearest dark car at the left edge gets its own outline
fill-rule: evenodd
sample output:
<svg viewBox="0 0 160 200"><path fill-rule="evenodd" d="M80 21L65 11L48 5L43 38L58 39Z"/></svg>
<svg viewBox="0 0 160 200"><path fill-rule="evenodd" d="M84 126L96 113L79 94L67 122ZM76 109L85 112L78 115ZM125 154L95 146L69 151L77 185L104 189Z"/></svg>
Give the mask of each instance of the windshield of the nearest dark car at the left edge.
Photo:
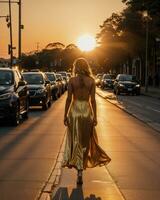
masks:
<svg viewBox="0 0 160 200"><path fill-rule="evenodd" d="M0 85L12 85L13 73L11 71L0 71Z"/></svg>

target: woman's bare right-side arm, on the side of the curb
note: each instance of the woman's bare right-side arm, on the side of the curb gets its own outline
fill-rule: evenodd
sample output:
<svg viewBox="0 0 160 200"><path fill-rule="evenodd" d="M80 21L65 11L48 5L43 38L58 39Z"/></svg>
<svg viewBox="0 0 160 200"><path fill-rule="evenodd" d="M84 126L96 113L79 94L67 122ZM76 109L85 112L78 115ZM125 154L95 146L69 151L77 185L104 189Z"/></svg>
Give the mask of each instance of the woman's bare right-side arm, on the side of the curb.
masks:
<svg viewBox="0 0 160 200"><path fill-rule="evenodd" d="M96 92L96 84L93 81L92 87L91 87L91 105L92 105L92 110L93 110L93 123L96 126L97 125L97 106L96 106L96 99L95 99L95 92Z"/></svg>

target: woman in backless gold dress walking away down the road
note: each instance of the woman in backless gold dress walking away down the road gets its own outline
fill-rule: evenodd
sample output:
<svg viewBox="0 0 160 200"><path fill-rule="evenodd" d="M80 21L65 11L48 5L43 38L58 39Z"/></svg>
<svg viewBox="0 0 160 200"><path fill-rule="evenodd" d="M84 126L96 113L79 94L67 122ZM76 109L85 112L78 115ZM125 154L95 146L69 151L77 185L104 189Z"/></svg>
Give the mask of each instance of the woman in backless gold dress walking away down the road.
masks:
<svg viewBox="0 0 160 200"><path fill-rule="evenodd" d="M63 167L74 167L77 184L82 184L84 169L106 165L111 159L98 145L95 82L90 66L84 58L76 59L73 66L64 113L67 140Z"/></svg>

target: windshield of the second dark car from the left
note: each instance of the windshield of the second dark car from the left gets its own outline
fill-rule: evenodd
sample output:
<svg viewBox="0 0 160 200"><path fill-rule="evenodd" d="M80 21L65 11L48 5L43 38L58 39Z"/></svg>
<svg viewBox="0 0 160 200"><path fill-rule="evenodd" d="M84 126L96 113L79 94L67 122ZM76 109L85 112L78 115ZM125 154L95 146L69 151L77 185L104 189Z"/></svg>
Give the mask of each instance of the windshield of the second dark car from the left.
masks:
<svg viewBox="0 0 160 200"><path fill-rule="evenodd" d="M39 85L44 83L42 74L23 74L24 80L30 85Z"/></svg>

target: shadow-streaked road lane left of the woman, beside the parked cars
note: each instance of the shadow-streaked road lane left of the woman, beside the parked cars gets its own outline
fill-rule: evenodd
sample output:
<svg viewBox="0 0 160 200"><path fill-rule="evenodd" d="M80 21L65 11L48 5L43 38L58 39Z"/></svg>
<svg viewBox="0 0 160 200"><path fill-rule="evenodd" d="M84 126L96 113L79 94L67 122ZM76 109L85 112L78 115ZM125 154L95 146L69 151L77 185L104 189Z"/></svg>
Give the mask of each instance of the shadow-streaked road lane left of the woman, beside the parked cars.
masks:
<svg viewBox="0 0 160 200"><path fill-rule="evenodd" d="M56 167L65 133L63 111L62 96L47 111L31 110L18 127L1 123L0 200L38 199Z"/></svg>

